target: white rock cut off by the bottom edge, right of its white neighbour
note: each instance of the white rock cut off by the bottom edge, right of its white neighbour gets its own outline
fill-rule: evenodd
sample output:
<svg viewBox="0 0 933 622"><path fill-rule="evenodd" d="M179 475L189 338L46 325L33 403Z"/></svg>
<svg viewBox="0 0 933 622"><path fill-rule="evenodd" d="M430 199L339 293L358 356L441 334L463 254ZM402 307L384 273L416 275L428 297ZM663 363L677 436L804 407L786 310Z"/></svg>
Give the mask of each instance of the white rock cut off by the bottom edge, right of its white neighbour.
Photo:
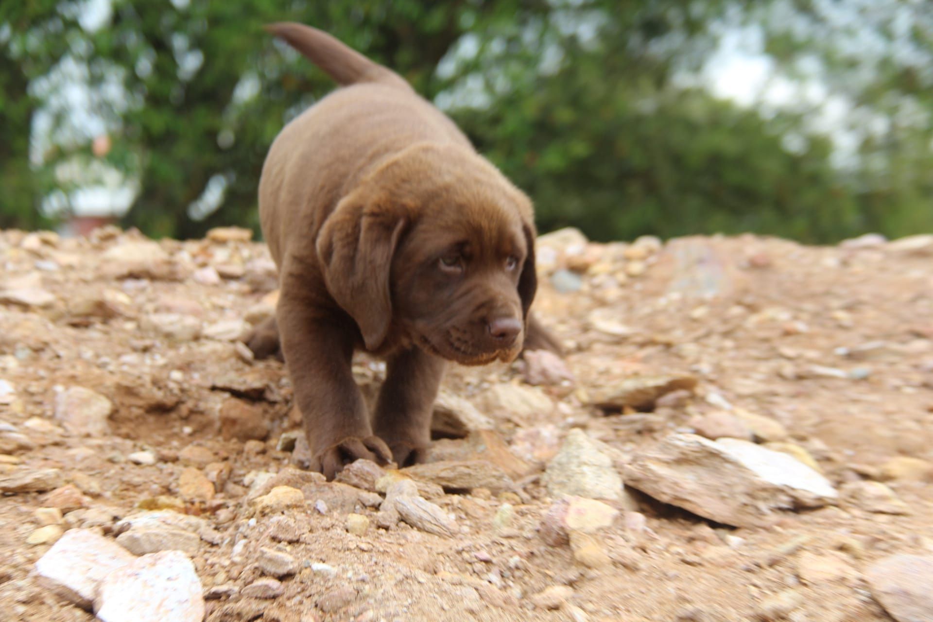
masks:
<svg viewBox="0 0 933 622"><path fill-rule="evenodd" d="M144 555L107 574L94 613L104 622L201 622L201 580L179 551Z"/></svg>

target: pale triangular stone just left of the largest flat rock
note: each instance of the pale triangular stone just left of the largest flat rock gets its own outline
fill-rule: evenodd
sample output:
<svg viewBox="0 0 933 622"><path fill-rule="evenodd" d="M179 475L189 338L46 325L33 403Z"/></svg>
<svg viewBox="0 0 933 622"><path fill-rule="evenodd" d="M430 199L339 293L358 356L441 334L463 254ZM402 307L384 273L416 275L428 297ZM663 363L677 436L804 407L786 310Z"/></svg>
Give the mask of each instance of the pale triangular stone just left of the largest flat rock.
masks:
<svg viewBox="0 0 933 622"><path fill-rule="evenodd" d="M585 432L572 429L543 477L551 496L573 495L590 499L622 499L622 478L612 459Z"/></svg>

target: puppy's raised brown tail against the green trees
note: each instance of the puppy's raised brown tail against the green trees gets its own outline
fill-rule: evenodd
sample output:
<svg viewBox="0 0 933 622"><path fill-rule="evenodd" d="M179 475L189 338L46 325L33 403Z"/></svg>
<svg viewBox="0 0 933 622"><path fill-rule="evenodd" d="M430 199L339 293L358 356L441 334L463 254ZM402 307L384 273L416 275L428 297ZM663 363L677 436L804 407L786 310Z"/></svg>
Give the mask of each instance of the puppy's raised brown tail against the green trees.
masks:
<svg viewBox="0 0 933 622"><path fill-rule="evenodd" d="M271 23L266 25L265 29L297 49L343 86L378 82L411 90L404 78L383 65L370 61L324 31L294 21Z"/></svg>

